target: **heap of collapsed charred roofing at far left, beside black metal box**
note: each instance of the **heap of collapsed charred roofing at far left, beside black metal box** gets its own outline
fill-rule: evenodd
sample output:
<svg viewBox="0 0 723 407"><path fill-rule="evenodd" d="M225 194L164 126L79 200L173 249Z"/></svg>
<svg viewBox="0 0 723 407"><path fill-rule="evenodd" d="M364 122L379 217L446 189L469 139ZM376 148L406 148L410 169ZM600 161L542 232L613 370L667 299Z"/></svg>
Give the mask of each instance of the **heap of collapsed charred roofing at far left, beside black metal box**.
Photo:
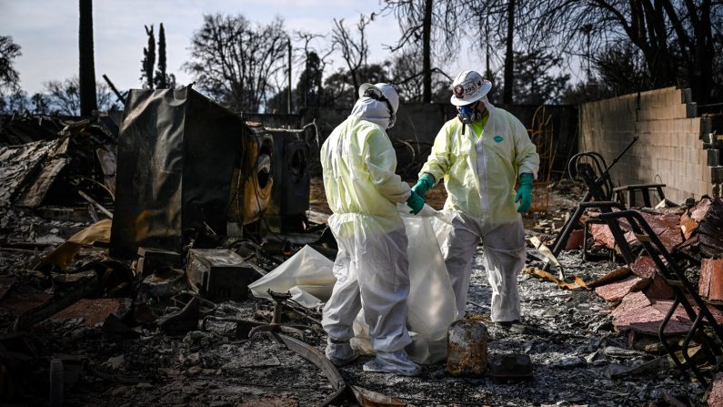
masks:
<svg viewBox="0 0 723 407"><path fill-rule="evenodd" d="M90 204L80 218L98 220L97 212L115 198L117 128L109 117L5 116L0 135L0 208L60 210L46 205L47 198L56 206Z"/></svg>

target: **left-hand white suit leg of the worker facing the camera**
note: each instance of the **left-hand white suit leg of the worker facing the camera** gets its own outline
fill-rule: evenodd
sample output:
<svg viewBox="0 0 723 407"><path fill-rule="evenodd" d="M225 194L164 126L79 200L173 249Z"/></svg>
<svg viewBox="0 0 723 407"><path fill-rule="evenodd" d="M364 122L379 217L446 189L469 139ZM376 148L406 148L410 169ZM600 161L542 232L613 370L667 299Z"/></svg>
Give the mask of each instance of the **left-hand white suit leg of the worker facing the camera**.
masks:
<svg viewBox="0 0 723 407"><path fill-rule="evenodd" d="M457 318L464 318L467 307L467 290L469 290L469 276L472 272L472 256L477 250L479 235L470 230L459 217L452 220L452 231L447 242L442 247L442 256L455 291L457 303Z"/></svg>

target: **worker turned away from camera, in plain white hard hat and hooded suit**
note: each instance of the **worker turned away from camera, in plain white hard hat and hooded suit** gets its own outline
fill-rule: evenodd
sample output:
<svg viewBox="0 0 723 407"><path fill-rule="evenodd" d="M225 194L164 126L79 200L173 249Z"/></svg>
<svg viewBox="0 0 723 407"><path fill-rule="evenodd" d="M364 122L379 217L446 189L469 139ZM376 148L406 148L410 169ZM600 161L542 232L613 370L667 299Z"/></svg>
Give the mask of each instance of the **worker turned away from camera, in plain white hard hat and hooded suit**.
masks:
<svg viewBox="0 0 723 407"><path fill-rule="evenodd" d="M407 202L416 214L424 199L395 174L397 155L387 128L397 117L397 92L379 83L360 86L358 94L351 115L332 131L320 154L333 212L328 225L338 243L336 284L322 318L326 357L336 365L356 359L349 340L356 314L363 310L377 351L364 370L415 376L419 365L405 351L412 342L407 331L407 234L397 203Z"/></svg>

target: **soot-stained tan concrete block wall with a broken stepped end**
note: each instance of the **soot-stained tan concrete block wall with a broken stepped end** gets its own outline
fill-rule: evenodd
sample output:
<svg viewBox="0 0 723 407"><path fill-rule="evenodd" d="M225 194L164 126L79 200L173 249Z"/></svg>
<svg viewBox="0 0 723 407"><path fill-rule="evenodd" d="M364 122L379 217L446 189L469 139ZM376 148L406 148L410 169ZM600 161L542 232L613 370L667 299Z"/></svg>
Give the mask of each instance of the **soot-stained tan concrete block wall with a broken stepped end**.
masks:
<svg viewBox="0 0 723 407"><path fill-rule="evenodd" d="M579 151L601 154L608 166L638 136L610 171L616 186L666 184L666 198L683 203L712 194L701 118L685 89L662 89L580 106Z"/></svg>

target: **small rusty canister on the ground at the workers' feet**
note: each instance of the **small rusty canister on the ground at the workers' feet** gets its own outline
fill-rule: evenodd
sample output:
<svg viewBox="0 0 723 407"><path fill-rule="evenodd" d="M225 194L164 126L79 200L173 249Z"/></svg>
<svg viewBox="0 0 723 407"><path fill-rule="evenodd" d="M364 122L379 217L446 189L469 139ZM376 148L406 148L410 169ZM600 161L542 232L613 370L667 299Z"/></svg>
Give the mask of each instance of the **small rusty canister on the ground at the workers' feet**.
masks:
<svg viewBox="0 0 723 407"><path fill-rule="evenodd" d="M447 372L481 376L487 370L487 326L479 320L457 320L447 330Z"/></svg>

